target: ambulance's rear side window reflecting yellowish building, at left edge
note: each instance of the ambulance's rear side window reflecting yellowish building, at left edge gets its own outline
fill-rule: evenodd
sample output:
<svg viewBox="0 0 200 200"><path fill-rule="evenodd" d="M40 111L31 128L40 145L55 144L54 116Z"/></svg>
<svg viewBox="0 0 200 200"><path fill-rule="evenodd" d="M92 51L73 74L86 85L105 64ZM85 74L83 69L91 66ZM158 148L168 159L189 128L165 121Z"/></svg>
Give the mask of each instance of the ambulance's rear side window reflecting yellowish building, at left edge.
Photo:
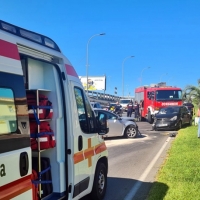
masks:
<svg viewBox="0 0 200 200"><path fill-rule="evenodd" d="M16 132L17 117L13 91L0 88L0 134Z"/></svg>

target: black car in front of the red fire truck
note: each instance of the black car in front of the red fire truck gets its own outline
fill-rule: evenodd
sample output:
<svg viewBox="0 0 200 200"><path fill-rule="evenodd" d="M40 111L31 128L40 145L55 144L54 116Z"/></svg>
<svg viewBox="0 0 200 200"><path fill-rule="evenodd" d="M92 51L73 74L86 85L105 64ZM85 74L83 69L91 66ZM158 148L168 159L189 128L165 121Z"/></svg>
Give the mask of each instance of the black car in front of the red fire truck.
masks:
<svg viewBox="0 0 200 200"><path fill-rule="evenodd" d="M192 116L185 106L160 108L153 122L154 130L179 130L182 125L192 125Z"/></svg>

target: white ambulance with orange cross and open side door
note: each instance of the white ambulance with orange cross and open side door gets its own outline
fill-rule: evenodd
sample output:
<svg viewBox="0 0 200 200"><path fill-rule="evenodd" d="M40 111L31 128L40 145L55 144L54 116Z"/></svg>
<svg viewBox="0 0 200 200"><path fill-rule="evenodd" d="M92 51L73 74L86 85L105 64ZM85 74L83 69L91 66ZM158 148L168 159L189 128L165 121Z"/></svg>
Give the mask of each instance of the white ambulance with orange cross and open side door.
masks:
<svg viewBox="0 0 200 200"><path fill-rule="evenodd" d="M0 200L103 199L108 130L58 45L0 20Z"/></svg>

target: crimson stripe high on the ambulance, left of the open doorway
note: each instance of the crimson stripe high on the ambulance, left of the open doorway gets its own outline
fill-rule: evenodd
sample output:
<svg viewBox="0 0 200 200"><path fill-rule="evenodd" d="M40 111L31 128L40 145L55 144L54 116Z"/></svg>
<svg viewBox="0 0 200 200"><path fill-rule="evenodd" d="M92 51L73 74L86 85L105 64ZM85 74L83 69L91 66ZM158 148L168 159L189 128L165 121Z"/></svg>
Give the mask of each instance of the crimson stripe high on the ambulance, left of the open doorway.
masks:
<svg viewBox="0 0 200 200"><path fill-rule="evenodd" d="M20 60L17 45L0 40L0 56Z"/></svg>

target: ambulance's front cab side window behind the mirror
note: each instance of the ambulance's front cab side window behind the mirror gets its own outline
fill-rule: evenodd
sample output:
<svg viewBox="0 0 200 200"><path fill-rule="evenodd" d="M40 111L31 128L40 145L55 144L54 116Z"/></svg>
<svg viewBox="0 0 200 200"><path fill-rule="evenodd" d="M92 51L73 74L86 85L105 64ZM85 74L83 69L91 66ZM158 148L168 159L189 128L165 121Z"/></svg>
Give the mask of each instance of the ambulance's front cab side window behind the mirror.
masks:
<svg viewBox="0 0 200 200"><path fill-rule="evenodd" d="M75 87L74 92L80 127L84 133L94 133L95 119L90 103L82 89Z"/></svg>

